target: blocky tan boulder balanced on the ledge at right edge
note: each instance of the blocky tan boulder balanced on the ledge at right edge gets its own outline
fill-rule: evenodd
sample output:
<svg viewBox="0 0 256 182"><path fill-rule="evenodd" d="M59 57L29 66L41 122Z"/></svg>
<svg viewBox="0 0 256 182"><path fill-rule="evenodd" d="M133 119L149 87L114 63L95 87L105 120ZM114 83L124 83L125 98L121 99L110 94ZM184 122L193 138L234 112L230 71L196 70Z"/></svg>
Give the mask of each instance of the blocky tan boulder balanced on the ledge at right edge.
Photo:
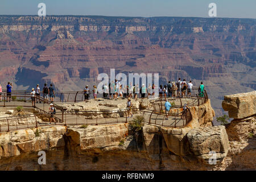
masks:
<svg viewBox="0 0 256 182"><path fill-rule="evenodd" d="M222 107L230 118L242 119L256 114L256 91L224 96Z"/></svg>

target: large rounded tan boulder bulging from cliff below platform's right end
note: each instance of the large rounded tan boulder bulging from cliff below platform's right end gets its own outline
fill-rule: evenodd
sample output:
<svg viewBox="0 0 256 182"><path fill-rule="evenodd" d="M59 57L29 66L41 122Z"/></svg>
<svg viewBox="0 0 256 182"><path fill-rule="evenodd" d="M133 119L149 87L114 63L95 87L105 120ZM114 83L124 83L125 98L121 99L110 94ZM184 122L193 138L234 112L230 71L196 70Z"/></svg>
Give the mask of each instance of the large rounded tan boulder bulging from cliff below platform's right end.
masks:
<svg viewBox="0 0 256 182"><path fill-rule="evenodd" d="M197 158L208 159L212 157L210 151L216 153L217 160L222 160L228 154L229 139L225 126L199 127L188 132L187 138L190 149Z"/></svg>

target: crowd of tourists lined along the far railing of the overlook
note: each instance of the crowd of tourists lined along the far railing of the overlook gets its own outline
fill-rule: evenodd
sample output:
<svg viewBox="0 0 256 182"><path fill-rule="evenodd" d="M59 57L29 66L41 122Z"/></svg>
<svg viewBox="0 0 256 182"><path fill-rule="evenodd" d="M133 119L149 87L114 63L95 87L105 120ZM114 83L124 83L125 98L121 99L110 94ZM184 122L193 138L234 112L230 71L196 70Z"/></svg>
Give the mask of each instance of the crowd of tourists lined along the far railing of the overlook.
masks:
<svg viewBox="0 0 256 182"><path fill-rule="evenodd" d="M117 100L118 97L124 98L134 98L137 100L138 94L141 94L141 98L145 98L146 94L147 97L155 95L155 89L159 91L159 98L162 100L163 97L166 100L167 97L191 97L193 84L190 80L188 83L184 79L181 81L181 78L177 82L168 81L166 85L155 86L154 84L148 84L146 87L142 84L141 88L139 85L133 85L131 82L126 88L123 88L123 85L120 84L118 80L112 81L109 85L104 85L102 87L103 90L103 98L109 98L110 100L114 99ZM98 90L97 86L93 85L93 98L97 98ZM84 96L85 100L89 99L90 89L89 86L86 85L84 88ZM199 96L204 97L204 85L201 82L199 87Z"/></svg>

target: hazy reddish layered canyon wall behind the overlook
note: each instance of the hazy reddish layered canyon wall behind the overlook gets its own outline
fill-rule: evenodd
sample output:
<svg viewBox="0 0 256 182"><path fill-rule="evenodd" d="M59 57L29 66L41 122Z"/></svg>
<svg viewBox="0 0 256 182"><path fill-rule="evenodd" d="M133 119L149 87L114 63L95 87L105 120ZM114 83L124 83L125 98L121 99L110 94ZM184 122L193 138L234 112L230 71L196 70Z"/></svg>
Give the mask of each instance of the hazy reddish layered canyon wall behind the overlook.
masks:
<svg viewBox="0 0 256 182"><path fill-rule="evenodd" d="M224 95L256 89L256 19L0 15L0 82L57 90L99 73L159 73L160 84L203 81L216 112Z"/></svg>

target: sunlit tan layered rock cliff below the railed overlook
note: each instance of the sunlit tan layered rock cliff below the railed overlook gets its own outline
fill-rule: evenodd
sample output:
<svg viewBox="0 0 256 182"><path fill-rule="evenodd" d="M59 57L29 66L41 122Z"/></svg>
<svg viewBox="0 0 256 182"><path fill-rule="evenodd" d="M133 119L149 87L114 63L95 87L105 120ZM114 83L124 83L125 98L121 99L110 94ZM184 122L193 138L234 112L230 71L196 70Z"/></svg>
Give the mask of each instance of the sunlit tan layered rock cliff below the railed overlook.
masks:
<svg viewBox="0 0 256 182"><path fill-rule="evenodd" d="M254 93L255 94L255 93ZM251 93L240 94L251 97ZM240 97L239 95L227 97ZM255 99L254 99L255 101ZM232 104L232 100L225 100ZM241 105L239 109L245 109ZM238 110L239 110L238 109ZM129 123L48 126L0 133L2 170L255 170L256 111L226 126L212 126L207 102L194 106L185 127L144 124L129 134ZM233 112L232 109L230 109ZM38 164L38 151L46 164ZM213 154L216 163L212 160Z"/></svg>

